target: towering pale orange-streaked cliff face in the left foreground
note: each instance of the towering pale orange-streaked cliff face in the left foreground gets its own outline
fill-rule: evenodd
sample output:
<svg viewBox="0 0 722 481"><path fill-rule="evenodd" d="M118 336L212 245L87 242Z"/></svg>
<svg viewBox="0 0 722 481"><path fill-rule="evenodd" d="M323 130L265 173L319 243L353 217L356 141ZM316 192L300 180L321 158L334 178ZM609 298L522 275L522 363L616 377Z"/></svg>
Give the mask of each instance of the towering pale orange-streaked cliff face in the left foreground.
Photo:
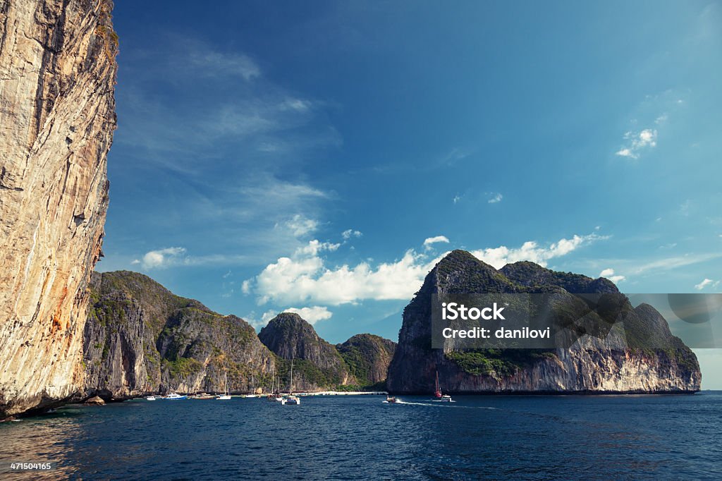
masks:
<svg viewBox="0 0 722 481"><path fill-rule="evenodd" d="M112 6L0 1L0 414L82 383L116 126Z"/></svg>

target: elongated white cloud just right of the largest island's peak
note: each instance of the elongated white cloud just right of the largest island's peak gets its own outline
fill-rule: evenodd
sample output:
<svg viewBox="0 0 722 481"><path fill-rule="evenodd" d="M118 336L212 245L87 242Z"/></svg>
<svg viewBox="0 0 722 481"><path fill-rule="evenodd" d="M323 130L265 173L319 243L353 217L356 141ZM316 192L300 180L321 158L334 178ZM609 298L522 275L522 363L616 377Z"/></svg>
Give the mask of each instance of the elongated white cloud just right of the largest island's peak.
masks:
<svg viewBox="0 0 722 481"><path fill-rule="evenodd" d="M501 269L506 264L517 261L532 261L540 266L546 266L549 259L565 256L585 244L606 238L606 236L597 234L575 235L571 239L560 239L546 247L539 246L536 241L527 241L519 248L499 246L471 251L471 254L495 269Z"/></svg>

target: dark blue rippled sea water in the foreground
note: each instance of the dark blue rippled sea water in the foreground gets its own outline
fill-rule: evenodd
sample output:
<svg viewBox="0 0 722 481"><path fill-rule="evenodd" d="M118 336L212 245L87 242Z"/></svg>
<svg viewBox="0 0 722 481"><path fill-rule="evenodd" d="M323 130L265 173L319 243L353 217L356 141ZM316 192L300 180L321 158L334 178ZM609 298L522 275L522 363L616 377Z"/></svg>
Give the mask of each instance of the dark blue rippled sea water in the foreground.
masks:
<svg viewBox="0 0 722 481"><path fill-rule="evenodd" d="M89 480L722 477L721 392L382 399L71 406L1 424L0 462L56 462L47 479Z"/></svg>

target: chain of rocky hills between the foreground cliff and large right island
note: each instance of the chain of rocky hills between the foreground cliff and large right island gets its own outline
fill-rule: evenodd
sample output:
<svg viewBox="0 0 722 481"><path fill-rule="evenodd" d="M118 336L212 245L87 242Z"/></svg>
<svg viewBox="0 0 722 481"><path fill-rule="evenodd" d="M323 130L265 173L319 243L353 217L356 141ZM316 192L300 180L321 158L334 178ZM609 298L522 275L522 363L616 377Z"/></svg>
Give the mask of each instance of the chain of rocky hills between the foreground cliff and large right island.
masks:
<svg viewBox="0 0 722 481"><path fill-rule="evenodd" d="M269 391L271 376L295 391L378 389L395 343L370 334L340 348L295 313L281 313L260 334L237 316L174 295L137 272L95 273L84 328L84 389L76 399L122 401L158 392ZM347 361L348 359L348 361Z"/></svg>

